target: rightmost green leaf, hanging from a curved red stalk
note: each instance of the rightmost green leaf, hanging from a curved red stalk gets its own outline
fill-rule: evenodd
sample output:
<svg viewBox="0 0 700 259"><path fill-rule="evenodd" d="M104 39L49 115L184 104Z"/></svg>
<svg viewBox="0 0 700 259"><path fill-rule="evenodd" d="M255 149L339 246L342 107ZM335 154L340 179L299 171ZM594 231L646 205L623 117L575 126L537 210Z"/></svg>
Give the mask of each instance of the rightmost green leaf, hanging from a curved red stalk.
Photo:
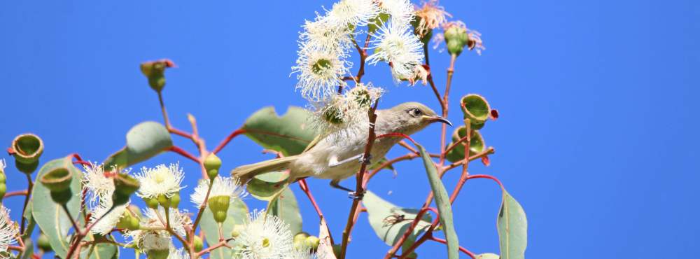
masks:
<svg viewBox="0 0 700 259"><path fill-rule="evenodd" d="M527 218L523 207L506 190L503 190L503 202L498 211L497 226L501 258L525 258Z"/></svg>

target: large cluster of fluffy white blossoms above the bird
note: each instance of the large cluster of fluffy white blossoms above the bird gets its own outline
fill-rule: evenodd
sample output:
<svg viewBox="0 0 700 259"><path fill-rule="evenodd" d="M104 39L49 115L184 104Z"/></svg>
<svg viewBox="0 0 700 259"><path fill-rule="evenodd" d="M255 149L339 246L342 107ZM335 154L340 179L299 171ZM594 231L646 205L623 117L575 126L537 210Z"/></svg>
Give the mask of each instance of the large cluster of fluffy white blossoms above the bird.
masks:
<svg viewBox="0 0 700 259"><path fill-rule="evenodd" d="M321 134L351 127L358 115L367 116L372 103L356 104L357 92L370 92L372 102L384 92L371 84L355 82L351 87L346 83L356 80L348 60L355 50L356 36L366 33L372 38L369 48L374 53L366 61L386 62L395 80L414 83L416 76L424 74L423 43L413 34L414 18L414 6L409 0L341 0L302 26L292 71L297 74L297 89L311 102L317 115L314 125Z"/></svg>

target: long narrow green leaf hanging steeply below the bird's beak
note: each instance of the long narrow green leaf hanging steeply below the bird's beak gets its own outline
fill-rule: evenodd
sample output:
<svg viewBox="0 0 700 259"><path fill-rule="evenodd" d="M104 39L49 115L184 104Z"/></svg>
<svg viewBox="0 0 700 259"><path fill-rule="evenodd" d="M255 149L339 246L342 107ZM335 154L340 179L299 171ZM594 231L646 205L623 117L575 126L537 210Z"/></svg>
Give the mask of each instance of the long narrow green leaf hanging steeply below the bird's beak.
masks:
<svg viewBox="0 0 700 259"><path fill-rule="evenodd" d="M418 147L418 151L421 153L423 165L426 167L426 173L428 174L430 188L433 189L433 193L435 194L437 212L440 213L440 225L442 225L444 237L447 239L447 257L449 259L459 258L459 240L457 238L457 232L454 230L452 206L449 203L449 195L447 195L447 190L445 190L442 185L440 176L437 175L435 163L433 163L433 159L430 158L430 155L426 152L426 148L417 144L416 147Z"/></svg>

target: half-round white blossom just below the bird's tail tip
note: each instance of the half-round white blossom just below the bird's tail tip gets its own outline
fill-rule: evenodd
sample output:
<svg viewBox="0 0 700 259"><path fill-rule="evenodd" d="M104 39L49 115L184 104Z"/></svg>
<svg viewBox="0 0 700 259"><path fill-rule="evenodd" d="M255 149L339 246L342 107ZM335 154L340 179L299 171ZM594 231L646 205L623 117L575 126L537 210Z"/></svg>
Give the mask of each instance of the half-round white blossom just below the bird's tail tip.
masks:
<svg viewBox="0 0 700 259"><path fill-rule="evenodd" d="M196 207L202 207L204 199L207 197L207 190L209 190L209 180L202 180L200 184L195 188L195 193L192 194L190 200L195 204ZM230 202L235 202L236 199L245 197L248 195L244 188L240 186L240 181L237 178L232 177L221 177L216 176L214 179L214 185L211 186L211 191L209 193L209 198L217 196L228 196L230 197Z"/></svg>

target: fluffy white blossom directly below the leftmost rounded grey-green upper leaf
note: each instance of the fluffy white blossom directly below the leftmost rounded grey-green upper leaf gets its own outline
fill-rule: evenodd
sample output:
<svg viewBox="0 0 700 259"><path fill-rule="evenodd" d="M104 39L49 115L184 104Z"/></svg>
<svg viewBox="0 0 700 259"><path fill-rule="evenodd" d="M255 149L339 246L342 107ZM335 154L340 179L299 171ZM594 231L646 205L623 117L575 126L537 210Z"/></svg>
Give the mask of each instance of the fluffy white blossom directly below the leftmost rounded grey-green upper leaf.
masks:
<svg viewBox="0 0 700 259"><path fill-rule="evenodd" d="M180 184L185 174L179 167L179 163L176 163L170 164L169 167L165 165L158 165L155 168L144 167L134 177L141 183L139 197L158 198L158 195L172 197L182 189Z"/></svg>

